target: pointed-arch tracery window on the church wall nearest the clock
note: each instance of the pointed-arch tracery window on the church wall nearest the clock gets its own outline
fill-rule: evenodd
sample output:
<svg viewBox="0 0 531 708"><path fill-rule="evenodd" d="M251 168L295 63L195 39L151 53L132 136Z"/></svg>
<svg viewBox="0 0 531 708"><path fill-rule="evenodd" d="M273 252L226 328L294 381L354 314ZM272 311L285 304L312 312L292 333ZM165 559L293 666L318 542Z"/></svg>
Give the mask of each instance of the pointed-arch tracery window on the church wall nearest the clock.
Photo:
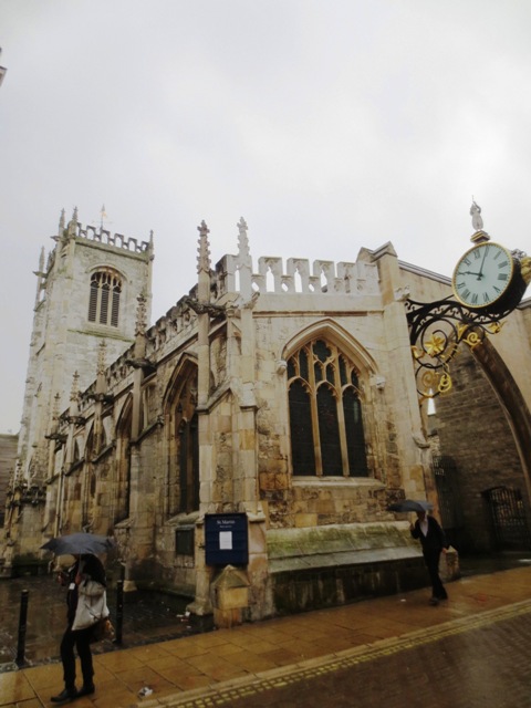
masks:
<svg viewBox="0 0 531 708"><path fill-rule="evenodd" d="M358 371L316 340L288 361L293 475L367 477Z"/></svg>

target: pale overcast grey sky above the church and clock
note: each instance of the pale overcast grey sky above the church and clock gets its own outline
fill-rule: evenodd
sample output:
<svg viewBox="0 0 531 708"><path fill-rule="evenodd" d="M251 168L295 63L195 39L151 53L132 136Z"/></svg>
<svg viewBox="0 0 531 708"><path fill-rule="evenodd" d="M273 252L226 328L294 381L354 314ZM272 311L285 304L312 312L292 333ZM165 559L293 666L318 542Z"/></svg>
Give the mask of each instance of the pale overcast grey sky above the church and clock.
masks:
<svg viewBox="0 0 531 708"><path fill-rule="evenodd" d="M0 0L0 431L18 431L61 209L155 235L153 321L249 225L261 256L392 241L451 275L485 229L531 251L529 0Z"/></svg>

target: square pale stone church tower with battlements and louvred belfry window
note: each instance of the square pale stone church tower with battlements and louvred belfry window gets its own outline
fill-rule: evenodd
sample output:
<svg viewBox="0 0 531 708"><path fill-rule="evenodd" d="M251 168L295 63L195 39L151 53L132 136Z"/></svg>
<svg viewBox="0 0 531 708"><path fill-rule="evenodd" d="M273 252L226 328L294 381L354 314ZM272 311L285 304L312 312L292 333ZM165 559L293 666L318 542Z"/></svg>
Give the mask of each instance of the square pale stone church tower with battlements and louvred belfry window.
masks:
<svg viewBox="0 0 531 708"><path fill-rule="evenodd" d="M104 212L102 211L102 215ZM150 317L153 233L138 242L77 221L66 225L64 210L55 247L45 263L41 252L33 330L19 435L19 481L42 481L48 473L45 436L66 410L72 382L84 391L97 373L104 341L108 361L135 341L137 298Z"/></svg>

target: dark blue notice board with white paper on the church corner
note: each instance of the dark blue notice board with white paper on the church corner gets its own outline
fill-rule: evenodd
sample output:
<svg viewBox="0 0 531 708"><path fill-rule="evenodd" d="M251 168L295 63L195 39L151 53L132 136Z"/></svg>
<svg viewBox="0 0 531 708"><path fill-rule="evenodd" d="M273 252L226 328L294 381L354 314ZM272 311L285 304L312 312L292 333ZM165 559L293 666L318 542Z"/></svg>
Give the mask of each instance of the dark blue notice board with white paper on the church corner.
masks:
<svg viewBox="0 0 531 708"><path fill-rule="evenodd" d="M207 565L247 565L247 513L205 514L205 553Z"/></svg>

